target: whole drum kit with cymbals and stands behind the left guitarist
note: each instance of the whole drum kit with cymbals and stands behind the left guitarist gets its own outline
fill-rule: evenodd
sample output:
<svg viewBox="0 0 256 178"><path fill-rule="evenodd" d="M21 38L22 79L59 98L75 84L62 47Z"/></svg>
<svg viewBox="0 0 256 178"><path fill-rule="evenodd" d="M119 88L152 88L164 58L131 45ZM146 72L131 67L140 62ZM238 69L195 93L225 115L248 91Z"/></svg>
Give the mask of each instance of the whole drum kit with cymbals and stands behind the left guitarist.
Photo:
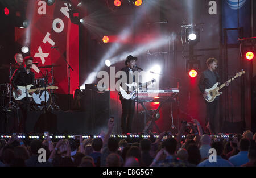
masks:
<svg viewBox="0 0 256 178"><path fill-rule="evenodd" d="M60 65L45 65L45 66L39 66L38 68L45 68L44 76L47 77L39 77L35 79L35 86L36 88L41 87L47 87L47 86L53 86L54 85L54 78L53 78L53 68L59 67ZM18 69L19 66L15 64L9 64L9 65L2 65L2 68L9 68L10 69L10 76L9 81L11 81L11 75L14 72L14 69ZM51 72L48 73L48 68L51 68ZM51 74L50 80L51 82L48 82L49 74ZM10 83L0 84L0 92L1 92L1 101L0 105L3 110L12 110L18 108L18 104L16 104L16 101L13 98L13 92ZM35 111L43 111L44 106L46 106L47 110L60 110L60 107L57 106L55 103L56 95L54 93L53 89L50 90L42 90L39 94L33 93L32 94L32 102L30 104L30 110ZM46 105L44 104L46 102Z"/></svg>

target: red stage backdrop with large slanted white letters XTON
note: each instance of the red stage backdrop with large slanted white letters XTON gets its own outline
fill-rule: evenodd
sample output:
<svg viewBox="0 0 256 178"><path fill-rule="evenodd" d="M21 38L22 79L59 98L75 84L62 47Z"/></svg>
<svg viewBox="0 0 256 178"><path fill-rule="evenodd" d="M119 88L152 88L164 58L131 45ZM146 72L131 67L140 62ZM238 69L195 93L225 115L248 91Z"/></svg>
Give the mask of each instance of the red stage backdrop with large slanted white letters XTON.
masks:
<svg viewBox="0 0 256 178"><path fill-rule="evenodd" d="M30 48L28 55L34 57L38 66L58 65L53 68L56 93L68 94L68 65L71 65L71 94L79 86L79 27L71 23L67 3L55 1L48 6L45 1L29 0L26 16L28 28L15 28L15 42ZM19 51L18 51L19 52ZM27 56L25 53L23 56ZM32 67L35 78L42 77L36 65ZM45 73L51 68L40 68ZM48 82L51 83L51 74Z"/></svg>

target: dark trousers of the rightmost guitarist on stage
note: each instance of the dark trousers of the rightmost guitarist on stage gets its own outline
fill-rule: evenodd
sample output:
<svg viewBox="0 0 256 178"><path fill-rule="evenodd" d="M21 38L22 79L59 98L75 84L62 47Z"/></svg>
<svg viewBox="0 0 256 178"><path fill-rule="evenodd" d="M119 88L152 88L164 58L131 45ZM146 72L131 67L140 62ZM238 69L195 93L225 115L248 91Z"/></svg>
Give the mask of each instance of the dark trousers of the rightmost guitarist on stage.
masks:
<svg viewBox="0 0 256 178"><path fill-rule="evenodd" d="M217 112L217 105L218 105L218 100L214 100L213 102L207 102L206 101L206 105L207 105L207 118L205 120L205 124L207 125L207 122L209 121L210 123L210 127L213 131L213 133L216 132L216 119L215 119L215 115ZM218 121L218 119L217 119Z"/></svg>

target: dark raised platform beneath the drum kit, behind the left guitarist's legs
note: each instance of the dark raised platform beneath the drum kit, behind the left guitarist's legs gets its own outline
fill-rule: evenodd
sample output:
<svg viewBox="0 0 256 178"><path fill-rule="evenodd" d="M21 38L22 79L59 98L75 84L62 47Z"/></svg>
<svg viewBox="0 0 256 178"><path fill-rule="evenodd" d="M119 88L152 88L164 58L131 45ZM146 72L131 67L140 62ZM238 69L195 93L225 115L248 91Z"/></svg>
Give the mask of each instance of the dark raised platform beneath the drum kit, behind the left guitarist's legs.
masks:
<svg viewBox="0 0 256 178"><path fill-rule="evenodd" d="M21 113L19 112L21 115ZM16 111L7 111L0 116L0 133L10 134L16 132L15 122L18 122ZM85 111L52 111L43 114L42 111L28 111L26 120L26 133L52 134L100 134L106 131L108 118L101 123L94 122L92 115Z"/></svg>

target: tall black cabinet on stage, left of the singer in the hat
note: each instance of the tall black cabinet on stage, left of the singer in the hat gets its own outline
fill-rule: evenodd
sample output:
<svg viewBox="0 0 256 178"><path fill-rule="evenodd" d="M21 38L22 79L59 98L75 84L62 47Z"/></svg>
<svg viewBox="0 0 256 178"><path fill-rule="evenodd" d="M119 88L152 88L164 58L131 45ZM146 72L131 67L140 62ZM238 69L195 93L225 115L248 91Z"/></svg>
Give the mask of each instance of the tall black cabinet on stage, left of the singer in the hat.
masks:
<svg viewBox="0 0 256 178"><path fill-rule="evenodd" d="M101 130L106 133L110 118L110 91L85 90L81 94L81 109L89 114L88 133L100 135Z"/></svg>

